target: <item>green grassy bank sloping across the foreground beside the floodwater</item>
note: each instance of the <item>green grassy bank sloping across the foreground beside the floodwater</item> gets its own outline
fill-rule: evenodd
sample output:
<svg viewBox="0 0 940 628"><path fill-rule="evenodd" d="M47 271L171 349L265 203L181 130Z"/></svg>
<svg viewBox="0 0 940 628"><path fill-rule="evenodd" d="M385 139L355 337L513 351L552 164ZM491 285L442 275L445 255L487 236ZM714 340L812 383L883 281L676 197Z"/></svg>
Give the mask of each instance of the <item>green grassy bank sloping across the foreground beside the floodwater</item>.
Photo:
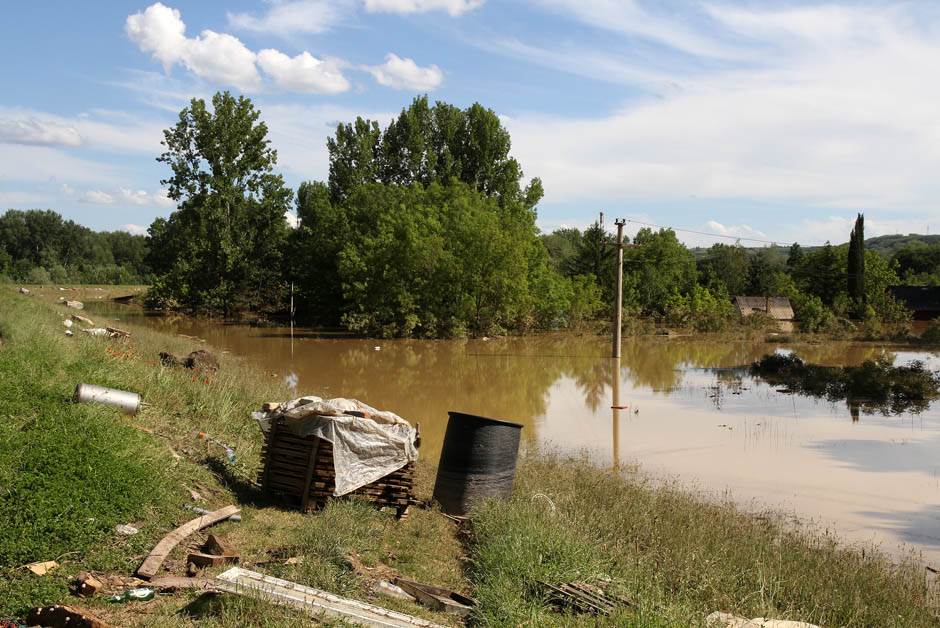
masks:
<svg viewBox="0 0 940 628"><path fill-rule="evenodd" d="M610 625L701 625L716 610L824 626L940 624L936 586L915 561L844 549L774 516L581 460L525 458L513 499L480 508L465 530L434 510L413 509L397 522L355 502L316 515L280 509L251 483L261 440L248 417L264 401L289 397L279 379L231 356L221 356L210 378L165 368L160 351L196 347L144 328L130 327L126 342L66 337L62 319L70 313L48 298L0 289L0 618L66 601L118 626L307 625L297 613L234 596L178 593L117 606L69 596L78 571L132 574L159 538L192 516L182 507L197 491L205 508L242 507L241 523L212 532L248 568L441 623L453 620L375 597L348 557L471 594L481 625L595 625L552 610L538 580L607 582L633 601L601 621ZM134 390L149 405L129 418L73 404L78 382ZM198 431L232 445L237 462L207 450ZM427 462L419 468L422 498L433 481ZM119 536L119 523L140 533ZM204 538L194 535L188 546ZM182 575L183 545L167 573ZM302 561L252 566L272 551ZM42 577L23 568L41 560L60 567Z"/></svg>

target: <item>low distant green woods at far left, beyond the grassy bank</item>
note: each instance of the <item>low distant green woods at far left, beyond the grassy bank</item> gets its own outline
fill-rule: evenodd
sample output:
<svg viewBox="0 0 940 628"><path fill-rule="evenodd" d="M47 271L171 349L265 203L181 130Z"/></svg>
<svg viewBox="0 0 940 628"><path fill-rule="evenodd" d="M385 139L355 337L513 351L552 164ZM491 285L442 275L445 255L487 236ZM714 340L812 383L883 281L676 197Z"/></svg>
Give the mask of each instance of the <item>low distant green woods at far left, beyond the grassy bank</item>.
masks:
<svg viewBox="0 0 940 628"><path fill-rule="evenodd" d="M147 241L121 231L94 232L49 210L0 216L0 274L28 283L143 283Z"/></svg>

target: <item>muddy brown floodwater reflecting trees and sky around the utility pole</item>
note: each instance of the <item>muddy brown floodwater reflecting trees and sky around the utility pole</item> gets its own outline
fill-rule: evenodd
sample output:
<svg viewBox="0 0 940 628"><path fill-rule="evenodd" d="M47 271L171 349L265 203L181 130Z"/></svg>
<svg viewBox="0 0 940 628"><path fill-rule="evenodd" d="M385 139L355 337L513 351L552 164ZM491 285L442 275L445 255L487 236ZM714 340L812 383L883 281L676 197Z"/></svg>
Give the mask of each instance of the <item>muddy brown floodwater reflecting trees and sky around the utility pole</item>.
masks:
<svg viewBox="0 0 940 628"><path fill-rule="evenodd" d="M284 328L89 305L244 356L293 378L298 396L392 410L420 423L421 455L434 461L448 411L508 419L524 426L525 447L583 451L601 466L638 464L747 507L796 514L850 542L898 555L913 546L940 566L940 403L917 415L853 413L844 402L778 392L744 368L778 348L827 365L888 354L934 370L940 353L642 338L624 341L618 365L609 341L593 336L361 340L295 330L292 340Z"/></svg>

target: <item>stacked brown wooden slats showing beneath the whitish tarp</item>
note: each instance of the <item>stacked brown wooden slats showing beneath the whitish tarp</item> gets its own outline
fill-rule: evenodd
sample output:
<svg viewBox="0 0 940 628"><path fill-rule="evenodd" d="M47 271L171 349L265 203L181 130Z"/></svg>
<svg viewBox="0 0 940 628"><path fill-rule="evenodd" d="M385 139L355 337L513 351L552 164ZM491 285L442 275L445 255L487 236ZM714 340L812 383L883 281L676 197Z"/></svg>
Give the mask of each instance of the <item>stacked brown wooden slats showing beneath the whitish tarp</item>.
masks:
<svg viewBox="0 0 940 628"><path fill-rule="evenodd" d="M282 421L280 417L274 419L265 437L259 483L266 494L277 495L305 512L318 510L336 490L333 445L316 436L297 436ZM394 508L401 519L414 501L413 485L414 463L410 462L348 495L379 508Z"/></svg>

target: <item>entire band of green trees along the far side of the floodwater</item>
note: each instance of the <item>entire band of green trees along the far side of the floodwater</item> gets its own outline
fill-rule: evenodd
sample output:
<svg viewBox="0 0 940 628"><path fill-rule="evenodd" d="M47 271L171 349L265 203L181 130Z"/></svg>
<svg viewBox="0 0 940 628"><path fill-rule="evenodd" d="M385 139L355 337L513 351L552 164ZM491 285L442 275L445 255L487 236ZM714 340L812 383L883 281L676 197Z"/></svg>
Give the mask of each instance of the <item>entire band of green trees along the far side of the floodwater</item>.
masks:
<svg viewBox="0 0 940 628"><path fill-rule="evenodd" d="M252 101L193 99L164 132L161 183L177 203L146 238L94 233L53 212L0 218L0 271L17 280L148 281L150 303L226 316L285 315L382 336L452 336L578 326L605 318L615 246L595 223L541 234L543 189L511 155L490 109L418 97L384 128L357 118L327 141L326 181L296 193ZM293 210L299 225L284 219ZM786 296L810 331L901 325L889 285L940 284L940 242L890 257L846 245L789 251L716 244L670 229L627 239L628 319L700 331L738 322L733 296Z"/></svg>

